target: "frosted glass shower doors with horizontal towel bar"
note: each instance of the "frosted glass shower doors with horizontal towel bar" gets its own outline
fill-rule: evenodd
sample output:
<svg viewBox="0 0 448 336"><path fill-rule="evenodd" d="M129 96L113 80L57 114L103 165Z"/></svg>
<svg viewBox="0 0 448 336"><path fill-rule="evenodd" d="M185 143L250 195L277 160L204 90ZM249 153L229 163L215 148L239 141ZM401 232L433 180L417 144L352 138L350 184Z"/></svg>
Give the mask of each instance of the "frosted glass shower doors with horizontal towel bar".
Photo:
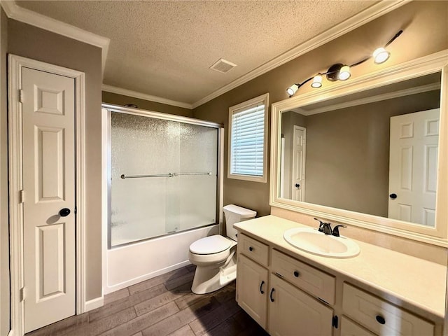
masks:
<svg viewBox="0 0 448 336"><path fill-rule="evenodd" d="M111 246L215 224L217 157L216 128L111 113Z"/></svg>

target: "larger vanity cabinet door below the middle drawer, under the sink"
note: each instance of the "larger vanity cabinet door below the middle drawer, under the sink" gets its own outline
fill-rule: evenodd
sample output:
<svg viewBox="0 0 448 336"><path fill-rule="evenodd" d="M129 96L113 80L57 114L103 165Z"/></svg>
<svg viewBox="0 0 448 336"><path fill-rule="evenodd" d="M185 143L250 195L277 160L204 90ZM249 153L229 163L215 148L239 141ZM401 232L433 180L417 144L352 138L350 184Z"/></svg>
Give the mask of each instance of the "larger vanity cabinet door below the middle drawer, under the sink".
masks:
<svg viewBox="0 0 448 336"><path fill-rule="evenodd" d="M277 276L271 275L269 281L270 335L332 335L330 307Z"/></svg>

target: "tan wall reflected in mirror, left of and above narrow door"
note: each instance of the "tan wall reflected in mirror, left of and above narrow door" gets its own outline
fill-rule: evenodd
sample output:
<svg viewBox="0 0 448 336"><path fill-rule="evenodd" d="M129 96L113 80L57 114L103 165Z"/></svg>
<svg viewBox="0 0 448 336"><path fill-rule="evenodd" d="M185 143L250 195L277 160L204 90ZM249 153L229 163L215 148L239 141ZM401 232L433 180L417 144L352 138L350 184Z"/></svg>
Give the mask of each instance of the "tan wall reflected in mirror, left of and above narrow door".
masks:
<svg viewBox="0 0 448 336"><path fill-rule="evenodd" d="M290 200L293 190L293 142L294 126L307 127L307 117L299 113L282 113L281 134L285 139L284 165L283 165L283 198Z"/></svg>

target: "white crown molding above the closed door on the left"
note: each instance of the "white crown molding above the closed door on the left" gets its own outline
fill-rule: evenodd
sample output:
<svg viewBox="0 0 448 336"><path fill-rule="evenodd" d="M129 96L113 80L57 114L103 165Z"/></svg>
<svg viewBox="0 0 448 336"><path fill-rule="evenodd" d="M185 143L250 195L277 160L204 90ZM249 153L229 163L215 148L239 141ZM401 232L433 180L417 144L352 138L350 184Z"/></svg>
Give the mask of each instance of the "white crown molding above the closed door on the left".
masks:
<svg viewBox="0 0 448 336"><path fill-rule="evenodd" d="M52 31L55 34L73 38L74 40L94 45L102 50L102 75L104 76L104 67L106 66L107 53L109 52L109 43L111 40L104 36L93 34L90 31L80 29L65 22L49 18L48 16L33 12L32 10L22 8L14 0L1 0L1 7L5 10L8 18L24 22L41 29Z"/></svg>

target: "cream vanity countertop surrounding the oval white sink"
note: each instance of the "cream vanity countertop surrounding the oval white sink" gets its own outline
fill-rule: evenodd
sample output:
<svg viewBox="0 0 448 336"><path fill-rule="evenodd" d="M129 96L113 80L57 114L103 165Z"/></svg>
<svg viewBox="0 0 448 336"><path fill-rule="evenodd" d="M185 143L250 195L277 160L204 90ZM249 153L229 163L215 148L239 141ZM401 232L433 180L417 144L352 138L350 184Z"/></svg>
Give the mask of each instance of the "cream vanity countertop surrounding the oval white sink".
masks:
<svg viewBox="0 0 448 336"><path fill-rule="evenodd" d="M447 267L443 265L355 239L352 240L359 245L360 254L353 258L328 258L307 253L288 244L283 239L283 232L309 226L272 215L234 226L241 232L297 255L311 265L326 267L335 275L344 274L435 317L444 318Z"/></svg>

